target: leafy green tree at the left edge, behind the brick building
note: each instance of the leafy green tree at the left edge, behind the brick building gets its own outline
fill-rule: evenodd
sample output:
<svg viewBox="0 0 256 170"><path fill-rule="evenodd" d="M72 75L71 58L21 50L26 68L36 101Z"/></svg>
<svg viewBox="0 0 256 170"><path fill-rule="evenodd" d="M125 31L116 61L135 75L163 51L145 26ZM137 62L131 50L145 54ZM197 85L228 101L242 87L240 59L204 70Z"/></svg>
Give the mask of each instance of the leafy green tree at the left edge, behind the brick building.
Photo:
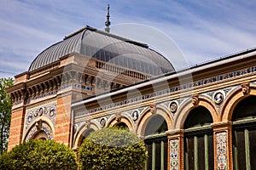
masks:
<svg viewBox="0 0 256 170"><path fill-rule="evenodd" d="M0 156L6 152L9 138L9 125L11 119L12 101L6 88L13 86L12 78L0 79Z"/></svg>

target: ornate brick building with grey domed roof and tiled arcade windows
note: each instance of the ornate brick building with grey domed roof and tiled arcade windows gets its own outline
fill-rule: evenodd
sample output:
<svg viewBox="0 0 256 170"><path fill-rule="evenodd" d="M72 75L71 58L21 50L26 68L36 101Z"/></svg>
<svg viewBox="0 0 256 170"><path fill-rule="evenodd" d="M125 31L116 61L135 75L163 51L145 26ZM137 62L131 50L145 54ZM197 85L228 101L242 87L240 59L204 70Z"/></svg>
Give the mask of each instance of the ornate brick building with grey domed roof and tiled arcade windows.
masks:
<svg viewBox="0 0 256 170"><path fill-rule="evenodd" d="M29 139L78 150L125 126L147 144L147 169L256 169L255 55L176 72L146 44L85 26L15 76L9 150Z"/></svg>

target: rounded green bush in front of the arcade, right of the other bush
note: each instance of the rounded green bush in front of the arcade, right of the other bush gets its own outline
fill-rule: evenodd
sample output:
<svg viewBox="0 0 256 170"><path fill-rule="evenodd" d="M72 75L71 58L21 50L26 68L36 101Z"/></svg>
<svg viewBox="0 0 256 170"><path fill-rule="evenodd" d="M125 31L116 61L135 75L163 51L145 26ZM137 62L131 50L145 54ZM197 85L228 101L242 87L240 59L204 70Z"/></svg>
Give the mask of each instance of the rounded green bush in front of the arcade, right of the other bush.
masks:
<svg viewBox="0 0 256 170"><path fill-rule="evenodd" d="M143 169L147 156L145 144L135 133L117 127L90 133L79 148L82 170Z"/></svg>

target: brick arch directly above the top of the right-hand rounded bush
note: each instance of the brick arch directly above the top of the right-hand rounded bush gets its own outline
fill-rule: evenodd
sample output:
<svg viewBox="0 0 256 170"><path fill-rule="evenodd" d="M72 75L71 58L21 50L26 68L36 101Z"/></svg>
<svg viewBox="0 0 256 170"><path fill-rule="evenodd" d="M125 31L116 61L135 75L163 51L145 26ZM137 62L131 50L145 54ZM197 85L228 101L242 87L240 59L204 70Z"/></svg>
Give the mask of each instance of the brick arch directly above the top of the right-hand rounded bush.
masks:
<svg viewBox="0 0 256 170"><path fill-rule="evenodd" d="M119 117L117 117L117 116L119 116ZM116 115L116 116L110 117L110 119L107 123L107 127L114 127L114 126L118 125L119 123L125 123L125 125L129 128L129 130L134 132L134 125L131 121L131 118L126 115Z"/></svg>

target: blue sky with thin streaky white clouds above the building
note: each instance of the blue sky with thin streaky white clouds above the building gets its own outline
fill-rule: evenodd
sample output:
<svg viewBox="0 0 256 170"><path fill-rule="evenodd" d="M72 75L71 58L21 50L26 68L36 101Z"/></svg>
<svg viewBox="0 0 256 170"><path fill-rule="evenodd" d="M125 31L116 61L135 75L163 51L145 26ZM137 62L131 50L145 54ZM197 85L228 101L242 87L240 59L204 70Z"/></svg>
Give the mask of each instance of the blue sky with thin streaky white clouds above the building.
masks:
<svg viewBox="0 0 256 170"><path fill-rule="evenodd" d="M103 30L108 3L111 33L129 37L124 26L153 28L169 40L150 31L133 31L129 38L148 40L156 50L173 42L188 65L256 46L256 1L0 0L0 78L28 71L38 54L73 31ZM149 39L137 40L141 35ZM163 53L168 59L170 51Z"/></svg>

